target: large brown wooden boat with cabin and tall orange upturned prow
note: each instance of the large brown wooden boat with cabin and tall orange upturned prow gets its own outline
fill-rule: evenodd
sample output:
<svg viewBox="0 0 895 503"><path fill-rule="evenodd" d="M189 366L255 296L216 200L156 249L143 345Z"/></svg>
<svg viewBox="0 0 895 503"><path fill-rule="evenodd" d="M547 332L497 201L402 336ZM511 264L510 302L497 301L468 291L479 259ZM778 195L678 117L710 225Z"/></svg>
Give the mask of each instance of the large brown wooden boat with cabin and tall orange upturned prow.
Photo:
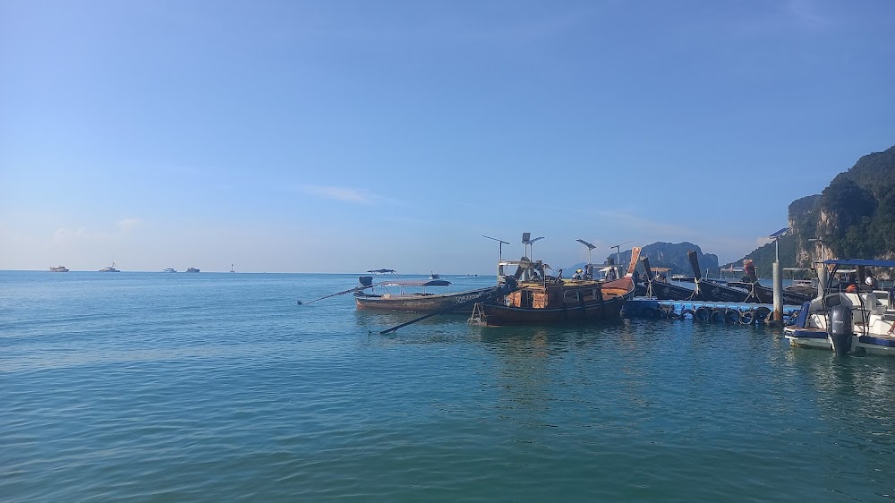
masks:
<svg viewBox="0 0 895 503"><path fill-rule="evenodd" d="M489 326L543 325L618 318L622 306L634 296L634 271L640 248L632 249L631 265L624 277L613 281L550 277L550 266L527 257L501 260L498 277L506 294L476 303L473 319ZM515 274L508 269L516 267Z"/></svg>

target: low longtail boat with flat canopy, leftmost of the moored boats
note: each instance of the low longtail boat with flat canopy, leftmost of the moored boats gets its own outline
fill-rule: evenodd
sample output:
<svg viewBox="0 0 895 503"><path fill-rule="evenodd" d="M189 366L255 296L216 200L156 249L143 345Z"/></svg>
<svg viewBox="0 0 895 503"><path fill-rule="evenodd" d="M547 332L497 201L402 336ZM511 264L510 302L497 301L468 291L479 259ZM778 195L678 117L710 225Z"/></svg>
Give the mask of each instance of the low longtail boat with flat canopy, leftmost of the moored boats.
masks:
<svg viewBox="0 0 895 503"><path fill-rule="evenodd" d="M376 269L367 272L395 273L394 269ZM434 275L433 275L434 276ZM429 279L388 279L376 285L372 277L362 276L361 284L354 291L354 303L359 310L373 311L405 311L405 312L469 312L469 303L484 299L496 290L496 286L467 290L465 292L448 292L450 281L433 277ZM444 286L440 293L432 293L432 287ZM369 292L367 290L370 290ZM451 310L458 306L456 311Z"/></svg>

